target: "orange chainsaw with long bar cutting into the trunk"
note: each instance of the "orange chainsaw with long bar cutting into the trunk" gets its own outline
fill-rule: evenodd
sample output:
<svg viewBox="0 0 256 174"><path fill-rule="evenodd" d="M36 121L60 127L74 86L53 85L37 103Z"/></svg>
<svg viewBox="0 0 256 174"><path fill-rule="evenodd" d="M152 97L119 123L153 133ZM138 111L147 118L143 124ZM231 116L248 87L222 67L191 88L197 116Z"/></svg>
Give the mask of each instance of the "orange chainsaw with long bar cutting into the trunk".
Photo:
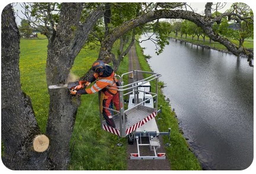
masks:
<svg viewBox="0 0 256 174"><path fill-rule="evenodd" d="M57 86L57 85L50 85L48 86L49 89L60 89L60 88L68 88L69 91L72 90L80 90L82 88L87 87L88 85L90 85L91 83L88 81L76 81L76 82L70 82L68 84L62 85L62 86Z"/></svg>

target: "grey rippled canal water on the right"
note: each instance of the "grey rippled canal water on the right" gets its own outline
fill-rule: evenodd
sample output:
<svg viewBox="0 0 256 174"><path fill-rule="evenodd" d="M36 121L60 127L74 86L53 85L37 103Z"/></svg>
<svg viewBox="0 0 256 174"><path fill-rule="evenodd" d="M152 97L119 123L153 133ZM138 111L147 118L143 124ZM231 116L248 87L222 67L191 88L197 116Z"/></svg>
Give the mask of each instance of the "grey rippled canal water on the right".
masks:
<svg viewBox="0 0 256 174"><path fill-rule="evenodd" d="M144 40L142 36L140 40ZM163 53L140 43L184 137L206 170L244 170L253 160L254 77L247 59L169 40Z"/></svg>

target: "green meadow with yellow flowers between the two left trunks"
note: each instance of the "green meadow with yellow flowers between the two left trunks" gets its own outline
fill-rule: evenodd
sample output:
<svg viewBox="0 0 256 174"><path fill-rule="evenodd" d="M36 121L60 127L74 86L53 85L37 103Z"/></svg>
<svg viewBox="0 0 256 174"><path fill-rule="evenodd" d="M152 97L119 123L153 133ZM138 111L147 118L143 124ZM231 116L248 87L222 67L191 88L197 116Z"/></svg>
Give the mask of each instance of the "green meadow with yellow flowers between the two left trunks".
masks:
<svg viewBox="0 0 256 174"><path fill-rule="evenodd" d="M20 40L21 89L31 98L39 127L43 132L49 109L46 84L47 40Z"/></svg>

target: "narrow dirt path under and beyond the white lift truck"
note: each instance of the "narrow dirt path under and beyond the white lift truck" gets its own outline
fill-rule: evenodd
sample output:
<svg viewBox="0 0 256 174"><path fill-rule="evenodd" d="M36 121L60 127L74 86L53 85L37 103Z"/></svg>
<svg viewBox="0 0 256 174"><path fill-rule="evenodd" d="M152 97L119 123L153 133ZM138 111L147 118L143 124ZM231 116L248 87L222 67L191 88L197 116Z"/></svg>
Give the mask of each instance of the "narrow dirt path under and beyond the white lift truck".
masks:
<svg viewBox="0 0 256 174"><path fill-rule="evenodd" d="M137 58L135 46L132 46L132 49L129 51L129 71L132 70L141 70L139 65L139 60ZM142 79L143 76L138 76L138 79ZM133 82L133 79L129 79L129 83ZM156 117L157 118L157 117ZM148 137L146 137L148 138ZM165 153L165 145L162 141L162 137L159 136L161 143L160 149L158 152ZM152 155L148 146L145 148L140 148L142 155ZM127 146L127 170L171 170L171 166L168 159L165 160L130 160L130 153L137 153L137 144L136 142L133 145Z"/></svg>

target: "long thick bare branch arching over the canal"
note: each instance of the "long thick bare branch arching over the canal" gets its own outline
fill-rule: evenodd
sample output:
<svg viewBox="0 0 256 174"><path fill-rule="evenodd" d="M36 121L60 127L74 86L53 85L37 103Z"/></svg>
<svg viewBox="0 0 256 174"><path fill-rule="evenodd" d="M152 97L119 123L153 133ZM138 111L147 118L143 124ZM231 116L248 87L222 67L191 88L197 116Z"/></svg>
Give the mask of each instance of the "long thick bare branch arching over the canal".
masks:
<svg viewBox="0 0 256 174"><path fill-rule="evenodd" d="M211 4L208 4L209 6ZM158 11L151 11L147 14L143 14L140 17L137 17L133 20L129 20L120 25L119 27L115 28L107 39L104 41L105 50L104 53L101 54L101 59L105 59L105 56L110 56L111 47L113 46L114 41L119 38L121 35L127 33L132 28L138 27L139 25L146 24L148 22L158 20L160 18L181 18L183 20L189 20L197 24L201 27L204 33L207 34L212 40L217 41L223 44L231 53L235 54L236 56L239 54L248 55L248 61L251 63L253 59L253 51L248 49L238 49L235 44L231 43L227 38L219 36L219 34L215 33L212 29L212 25L216 21L216 19L212 17L202 16L196 14L195 12L191 11L184 11L184 10L167 10L167 9L160 9ZM109 59L109 58L108 58Z"/></svg>

